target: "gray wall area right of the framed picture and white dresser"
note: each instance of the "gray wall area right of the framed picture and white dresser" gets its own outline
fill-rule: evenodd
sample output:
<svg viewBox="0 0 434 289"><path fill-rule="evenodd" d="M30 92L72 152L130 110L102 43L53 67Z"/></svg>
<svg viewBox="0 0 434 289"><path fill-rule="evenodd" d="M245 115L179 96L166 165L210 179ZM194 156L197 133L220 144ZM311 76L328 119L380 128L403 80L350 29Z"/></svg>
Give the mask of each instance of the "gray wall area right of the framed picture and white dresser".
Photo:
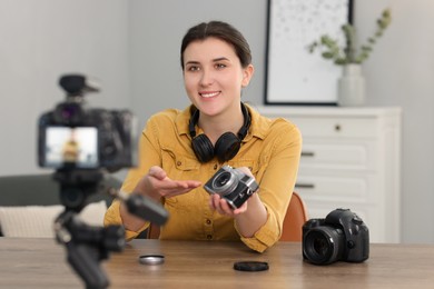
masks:
<svg viewBox="0 0 434 289"><path fill-rule="evenodd" d="M363 34L388 3L392 26L364 66L367 104L403 108L403 241L434 242L434 1L358 1Z"/></svg>

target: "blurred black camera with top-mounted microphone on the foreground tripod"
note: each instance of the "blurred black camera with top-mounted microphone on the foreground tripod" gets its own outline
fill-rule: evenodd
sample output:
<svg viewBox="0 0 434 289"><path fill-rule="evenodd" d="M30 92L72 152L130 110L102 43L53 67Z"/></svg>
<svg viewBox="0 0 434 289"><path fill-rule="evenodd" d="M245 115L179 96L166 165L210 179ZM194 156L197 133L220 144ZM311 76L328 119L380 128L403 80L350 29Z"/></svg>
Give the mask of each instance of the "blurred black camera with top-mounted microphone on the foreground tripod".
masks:
<svg viewBox="0 0 434 289"><path fill-rule="evenodd" d="M128 110L87 109L85 93L99 91L99 87L85 76L63 76L59 84L67 100L38 120L39 166L109 171L134 167L134 114Z"/></svg>

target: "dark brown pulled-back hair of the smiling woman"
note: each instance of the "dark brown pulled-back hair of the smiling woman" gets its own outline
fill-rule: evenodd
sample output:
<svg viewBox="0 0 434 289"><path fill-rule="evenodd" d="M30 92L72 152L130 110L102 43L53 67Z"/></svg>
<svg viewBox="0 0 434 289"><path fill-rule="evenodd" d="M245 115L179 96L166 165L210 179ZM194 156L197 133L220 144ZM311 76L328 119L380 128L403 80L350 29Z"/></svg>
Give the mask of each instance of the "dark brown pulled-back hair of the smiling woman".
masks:
<svg viewBox="0 0 434 289"><path fill-rule="evenodd" d="M180 62L184 70L184 51L189 43L197 40L205 40L209 37L218 38L234 47L243 68L251 63L251 52L247 40L241 32L233 26L221 21L203 22L191 27L184 36L180 49Z"/></svg>

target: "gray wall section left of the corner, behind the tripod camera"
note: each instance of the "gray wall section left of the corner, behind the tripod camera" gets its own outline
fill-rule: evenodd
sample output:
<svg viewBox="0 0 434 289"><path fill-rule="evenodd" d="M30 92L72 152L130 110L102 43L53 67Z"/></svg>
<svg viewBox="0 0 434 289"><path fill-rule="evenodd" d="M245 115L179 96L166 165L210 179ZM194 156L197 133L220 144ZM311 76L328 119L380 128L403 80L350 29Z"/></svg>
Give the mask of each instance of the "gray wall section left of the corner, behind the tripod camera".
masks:
<svg viewBox="0 0 434 289"><path fill-rule="evenodd" d="M122 0L0 0L0 175L40 171L37 119L65 100L60 74L98 77L91 106L130 106L128 9Z"/></svg>

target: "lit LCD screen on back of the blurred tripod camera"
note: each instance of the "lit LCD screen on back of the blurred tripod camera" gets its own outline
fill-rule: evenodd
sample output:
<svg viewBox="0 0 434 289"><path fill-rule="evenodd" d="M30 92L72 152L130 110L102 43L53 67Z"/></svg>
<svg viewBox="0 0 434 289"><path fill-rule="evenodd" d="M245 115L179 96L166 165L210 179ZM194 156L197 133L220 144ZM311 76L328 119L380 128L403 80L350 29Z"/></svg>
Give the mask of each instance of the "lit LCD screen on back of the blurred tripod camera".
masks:
<svg viewBox="0 0 434 289"><path fill-rule="evenodd" d="M46 129L46 167L97 168L98 165L97 128L48 127Z"/></svg>

